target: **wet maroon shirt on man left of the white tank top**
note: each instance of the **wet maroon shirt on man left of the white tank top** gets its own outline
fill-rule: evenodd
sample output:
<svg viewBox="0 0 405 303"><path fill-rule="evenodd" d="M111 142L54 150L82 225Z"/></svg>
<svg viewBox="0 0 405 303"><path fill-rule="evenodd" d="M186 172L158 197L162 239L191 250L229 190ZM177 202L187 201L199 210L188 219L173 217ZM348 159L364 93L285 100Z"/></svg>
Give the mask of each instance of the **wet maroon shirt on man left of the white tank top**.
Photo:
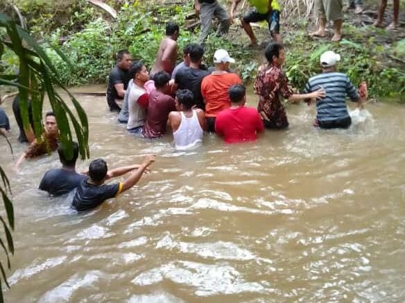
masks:
<svg viewBox="0 0 405 303"><path fill-rule="evenodd" d="M148 117L142 135L146 138L159 138L166 133L169 113L175 108L175 101L169 95L153 90L149 95Z"/></svg>

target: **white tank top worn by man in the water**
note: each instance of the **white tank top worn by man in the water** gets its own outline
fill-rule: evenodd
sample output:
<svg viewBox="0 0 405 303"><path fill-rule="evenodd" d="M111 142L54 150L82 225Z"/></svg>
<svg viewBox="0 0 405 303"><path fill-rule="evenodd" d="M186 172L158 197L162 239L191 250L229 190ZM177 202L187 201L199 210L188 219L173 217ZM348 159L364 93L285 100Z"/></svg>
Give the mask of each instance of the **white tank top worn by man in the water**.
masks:
<svg viewBox="0 0 405 303"><path fill-rule="evenodd" d="M204 131L198 121L196 110L193 110L193 116L187 118L181 112L182 121L177 131L173 132L175 147L178 149L189 149L199 142L202 142L202 135Z"/></svg>

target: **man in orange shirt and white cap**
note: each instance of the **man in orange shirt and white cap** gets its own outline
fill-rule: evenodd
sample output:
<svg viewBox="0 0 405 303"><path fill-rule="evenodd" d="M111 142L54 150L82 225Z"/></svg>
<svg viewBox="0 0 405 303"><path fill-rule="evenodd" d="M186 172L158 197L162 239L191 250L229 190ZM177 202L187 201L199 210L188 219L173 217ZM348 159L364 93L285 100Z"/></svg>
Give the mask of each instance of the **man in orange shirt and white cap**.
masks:
<svg viewBox="0 0 405 303"><path fill-rule="evenodd" d="M225 49L218 49L214 54L215 71L202 79L201 94L205 100L207 131L210 133L215 132L216 115L231 107L228 90L232 85L242 83L237 74L227 72L230 63L234 62Z"/></svg>

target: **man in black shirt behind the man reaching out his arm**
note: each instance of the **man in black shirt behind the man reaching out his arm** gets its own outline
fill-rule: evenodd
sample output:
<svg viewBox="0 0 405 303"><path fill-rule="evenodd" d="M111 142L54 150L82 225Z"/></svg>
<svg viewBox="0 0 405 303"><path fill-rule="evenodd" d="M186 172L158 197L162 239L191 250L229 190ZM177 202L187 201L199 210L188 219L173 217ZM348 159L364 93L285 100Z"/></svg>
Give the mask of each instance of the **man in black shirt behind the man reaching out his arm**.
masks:
<svg viewBox="0 0 405 303"><path fill-rule="evenodd" d="M79 147L76 142L72 142L73 157L68 160L64 156L61 146L58 147L58 154L62 168L49 170L44 174L40 183L40 190L45 190L51 195L59 196L74 190L81 181L87 179L84 174L76 172L76 160L79 156Z"/></svg>

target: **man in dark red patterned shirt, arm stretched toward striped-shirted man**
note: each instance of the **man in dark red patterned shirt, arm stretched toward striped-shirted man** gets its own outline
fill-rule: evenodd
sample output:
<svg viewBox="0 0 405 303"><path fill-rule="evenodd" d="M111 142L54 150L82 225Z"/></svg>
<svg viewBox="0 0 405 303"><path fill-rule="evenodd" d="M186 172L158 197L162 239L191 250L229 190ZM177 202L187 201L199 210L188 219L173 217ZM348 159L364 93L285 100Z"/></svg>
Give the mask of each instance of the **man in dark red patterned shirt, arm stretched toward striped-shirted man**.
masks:
<svg viewBox="0 0 405 303"><path fill-rule="evenodd" d="M255 93L259 95L257 111L267 129L286 129L288 119L282 98L288 99L288 101L320 99L325 97L325 91L320 89L311 94L294 94L288 88L288 79L282 71L285 60L282 44L268 44L265 54L268 63L259 67L259 73L253 86Z"/></svg>

